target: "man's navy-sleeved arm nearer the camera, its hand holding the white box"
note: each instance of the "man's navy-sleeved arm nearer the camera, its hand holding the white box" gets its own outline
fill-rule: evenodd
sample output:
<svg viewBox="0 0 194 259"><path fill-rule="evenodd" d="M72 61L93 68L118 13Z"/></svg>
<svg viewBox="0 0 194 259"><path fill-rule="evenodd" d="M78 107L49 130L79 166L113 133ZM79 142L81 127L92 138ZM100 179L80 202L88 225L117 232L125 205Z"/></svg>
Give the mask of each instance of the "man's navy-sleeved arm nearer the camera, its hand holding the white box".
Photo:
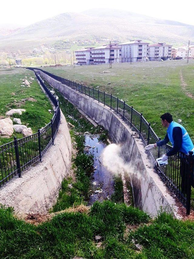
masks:
<svg viewBox="0 0 194 259"><path fill-rule="evenodd" d="M174 146L173 148L166 153L166 156L173 156L175 155L182 146L182 130L180 127L173 128L173 139L174 139Z"/></svg>

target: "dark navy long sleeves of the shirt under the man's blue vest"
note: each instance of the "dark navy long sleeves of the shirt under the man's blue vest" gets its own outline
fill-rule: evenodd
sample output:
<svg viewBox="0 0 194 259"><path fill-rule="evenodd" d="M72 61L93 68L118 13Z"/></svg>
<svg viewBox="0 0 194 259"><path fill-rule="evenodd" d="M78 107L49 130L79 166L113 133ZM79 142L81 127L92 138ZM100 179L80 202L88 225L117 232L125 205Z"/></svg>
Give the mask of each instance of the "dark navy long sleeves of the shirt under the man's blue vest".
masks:
<svg viewBox="0 0 194 259"><path fill-rule="evenodd" d="M180 127L174 127L172 131L174 146L169 152L166 153L166 156L175 155L182 146L182 130ZM168 133L166 134L165 138L159 142L157 142L157 146L163 146L169 142Z"/></svg>

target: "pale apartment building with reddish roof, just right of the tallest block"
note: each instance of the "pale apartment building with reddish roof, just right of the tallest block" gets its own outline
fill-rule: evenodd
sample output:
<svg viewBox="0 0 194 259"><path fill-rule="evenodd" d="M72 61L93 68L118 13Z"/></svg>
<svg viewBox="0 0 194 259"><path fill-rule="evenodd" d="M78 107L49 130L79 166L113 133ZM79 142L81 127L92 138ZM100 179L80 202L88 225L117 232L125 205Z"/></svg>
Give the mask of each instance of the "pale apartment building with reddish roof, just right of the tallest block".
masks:
<svg viewBox="0 0 194 259"><path fill-rule="evenodd" d="M149 45L149 59L158 60L161 58L171 58L172 45L168 45L165 42L155 43Z"/></svg>

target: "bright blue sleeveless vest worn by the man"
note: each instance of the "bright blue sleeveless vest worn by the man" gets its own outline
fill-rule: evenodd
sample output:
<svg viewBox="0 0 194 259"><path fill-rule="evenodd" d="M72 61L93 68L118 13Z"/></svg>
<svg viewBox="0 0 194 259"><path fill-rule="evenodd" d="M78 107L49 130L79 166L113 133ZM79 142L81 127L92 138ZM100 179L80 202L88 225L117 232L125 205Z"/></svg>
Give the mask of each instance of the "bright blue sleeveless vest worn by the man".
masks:
<svg viewBox="0 0 194 259"><path fill-rule="evenodd" d="M174 140L173 140L173 134L172 134L174 127L180 127L182 130L182 146L179 151L188 155L189 151L194 151L194 145L189 137L189 134L181 124L172 121L167 130L168 137L170 142L172 143L172 146L174 146Z"/></svg>

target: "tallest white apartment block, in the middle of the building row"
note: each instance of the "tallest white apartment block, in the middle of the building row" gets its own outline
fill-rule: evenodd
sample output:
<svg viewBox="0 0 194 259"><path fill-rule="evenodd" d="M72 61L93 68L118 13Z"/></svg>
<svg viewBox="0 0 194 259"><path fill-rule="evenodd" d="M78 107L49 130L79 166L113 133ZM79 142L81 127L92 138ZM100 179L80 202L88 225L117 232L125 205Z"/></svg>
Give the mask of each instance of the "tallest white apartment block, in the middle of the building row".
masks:
<svg viewBox="0 0 194 259"><path fill-rule="evenodd" d="M146 61L148 44L148 42L142 42L142 40L131 40L118 44L122 47L122 62Z"/></svg>

